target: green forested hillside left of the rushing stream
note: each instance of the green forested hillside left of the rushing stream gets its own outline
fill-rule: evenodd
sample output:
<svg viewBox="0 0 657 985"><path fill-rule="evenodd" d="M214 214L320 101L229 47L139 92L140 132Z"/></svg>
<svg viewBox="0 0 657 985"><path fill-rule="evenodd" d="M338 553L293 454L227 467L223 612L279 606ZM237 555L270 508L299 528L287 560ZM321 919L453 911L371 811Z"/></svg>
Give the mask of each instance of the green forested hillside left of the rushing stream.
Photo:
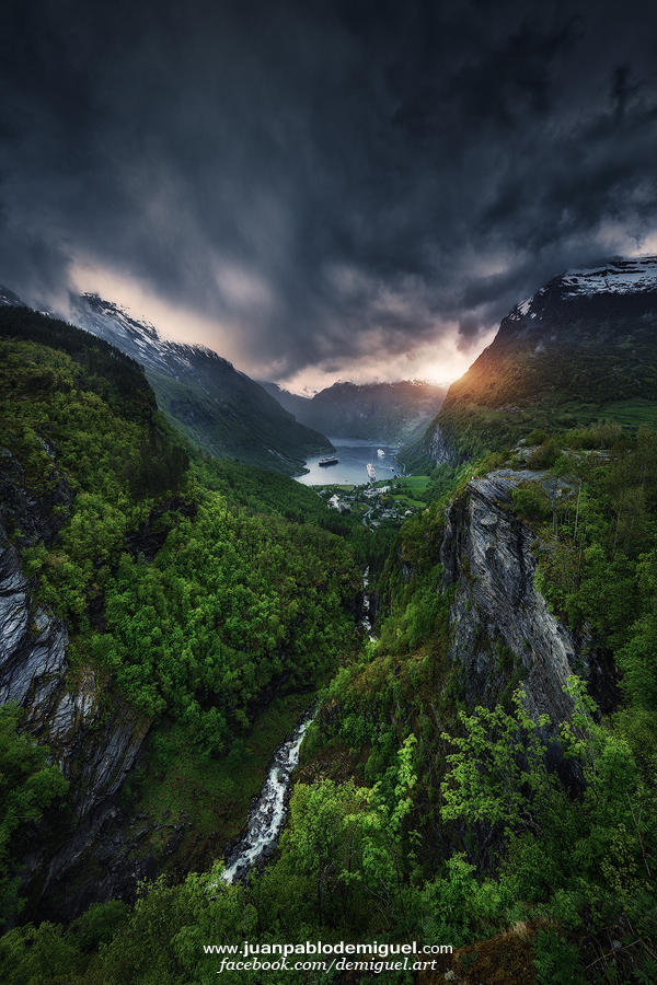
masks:
<svg viewBox="0 0 657 985"><path fill-rule="evenodd" d="M61 830L46 833L56 850L105 786L120 786L145 737L142 756L174 729L197 769L231 750L234 762L274 696L290 695L299 714L293 696L311 700L356 646L365 531L348 543L349 519L283 477L191 462L142 370L106 343L27 309L0 316L10 572L0 683L22 705L11 721L50 746L70 783L73 816L65 810ZM44 621L58 634L47 646ZM289 714L281 706L281 721ZM117 715L120 739L103 733ZM118 756L122 743L129 752ZM25 841L10 834L22 892ZM15 907L10 900L5 919Z"/></svg>

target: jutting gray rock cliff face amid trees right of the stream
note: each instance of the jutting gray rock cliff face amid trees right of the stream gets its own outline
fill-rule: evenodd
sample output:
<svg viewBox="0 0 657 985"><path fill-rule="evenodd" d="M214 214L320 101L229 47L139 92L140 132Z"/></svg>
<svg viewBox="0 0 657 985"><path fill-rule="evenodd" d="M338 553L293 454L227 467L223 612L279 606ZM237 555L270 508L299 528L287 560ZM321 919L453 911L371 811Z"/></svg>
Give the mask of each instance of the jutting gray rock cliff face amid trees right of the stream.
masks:
<svg viewBox="0 0 657 985"><path fill-rule="evenodd" d="M588 659L534 586L534 534L510 511L520 480L544 473L500 470L469 483L448 510L440 559L454 598L450 657L471 706L493 705L522 680L532 718L569 716L567 677L590 676ZM553 482L553 480L552 480Z"/></svg>

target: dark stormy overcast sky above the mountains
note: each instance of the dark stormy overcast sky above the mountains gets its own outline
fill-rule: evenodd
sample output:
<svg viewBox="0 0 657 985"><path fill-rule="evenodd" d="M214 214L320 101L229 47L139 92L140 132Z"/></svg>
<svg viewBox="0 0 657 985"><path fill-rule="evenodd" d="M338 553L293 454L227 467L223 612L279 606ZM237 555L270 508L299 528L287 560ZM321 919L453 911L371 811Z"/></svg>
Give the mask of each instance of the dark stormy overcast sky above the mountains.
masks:
<svg viewBox="0 0 657 985"><path fill-rule="evenodd" d="M657 4L3 2L0 283L295 389L459 375L657 253Z"/></svg>

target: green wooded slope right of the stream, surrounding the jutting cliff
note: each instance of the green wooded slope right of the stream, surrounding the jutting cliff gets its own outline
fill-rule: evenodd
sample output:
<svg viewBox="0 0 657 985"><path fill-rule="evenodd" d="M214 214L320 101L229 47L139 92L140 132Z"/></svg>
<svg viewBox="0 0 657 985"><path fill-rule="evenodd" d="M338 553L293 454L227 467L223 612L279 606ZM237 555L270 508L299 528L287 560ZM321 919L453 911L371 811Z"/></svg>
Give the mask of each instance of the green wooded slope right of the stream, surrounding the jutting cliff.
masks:
<svg viewBox="0 0 657 985"><path fill-rule="evenodd" d="M203 943L250 936L450 941L440 975L452 969L457 981L593 982L610 970L649 981L657 440L611 427L562 444L548 471L544 460L507 470L516 477L505 509L530 531L537 584L586 658L583 676L566 682L564 720L528 714L523 654L502 638L486 650L488 700L469 698L452 646L468 586L443 589L446 503L436 503L402 531L380 640L325 688L278 859L245 885L212 872L160 881L131 912L107 904L66 931L10 931L7 981L46 962L70 982L210 981L218 959ZM476 483L452 509L480 495ZM609 658L619 691L601 718L584 681L596 691L595 661Z"/></svg>

